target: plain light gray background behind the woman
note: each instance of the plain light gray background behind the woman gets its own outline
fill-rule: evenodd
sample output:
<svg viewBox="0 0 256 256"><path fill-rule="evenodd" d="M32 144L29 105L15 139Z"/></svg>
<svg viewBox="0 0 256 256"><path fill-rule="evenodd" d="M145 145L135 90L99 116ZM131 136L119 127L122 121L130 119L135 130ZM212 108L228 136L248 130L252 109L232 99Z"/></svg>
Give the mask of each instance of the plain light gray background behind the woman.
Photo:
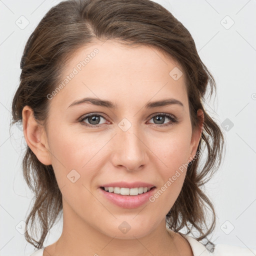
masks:
<svg viewBox="0 0 256 256"><path fill-rule="evenodd" d="M42 16L57 2L0 0L1 256L29 255L33 251L22 234L22 221L32 198L21 173L25 140L17 126L9 130L8 124L25 42ZM222 128L226 140L225 158L217 174L205 185L217 214L211 240L256 248L256 1L157 2L171 11L192 34L201 59L217 84L216 99L207 101L205 108L219 124L226 118L225 122L229 122L224 122L228 126ZM25 18L20 17L22 15ZM26 24L25 19L29 24L21 29L19 26ZM61 223L53 227L44 245L59 237L61 227Z"/></svg>

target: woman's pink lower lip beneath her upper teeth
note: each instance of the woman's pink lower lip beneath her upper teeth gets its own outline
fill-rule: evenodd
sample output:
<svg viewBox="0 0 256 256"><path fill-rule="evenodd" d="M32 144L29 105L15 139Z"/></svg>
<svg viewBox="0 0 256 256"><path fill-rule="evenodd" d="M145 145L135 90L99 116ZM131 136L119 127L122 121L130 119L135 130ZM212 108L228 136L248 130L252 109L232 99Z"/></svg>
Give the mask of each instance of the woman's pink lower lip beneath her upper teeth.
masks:
<svg viewBox="0 0 256 256"><path fill-rule="evenodd" d="M126 209L137 208L146 203L146 201L149 201L149 197L154 193L155 189L156 187L153 187L149 191L138 195L121 195L113 192L110 193L102 188L99 188L99 190L110 202Z"/></svg>

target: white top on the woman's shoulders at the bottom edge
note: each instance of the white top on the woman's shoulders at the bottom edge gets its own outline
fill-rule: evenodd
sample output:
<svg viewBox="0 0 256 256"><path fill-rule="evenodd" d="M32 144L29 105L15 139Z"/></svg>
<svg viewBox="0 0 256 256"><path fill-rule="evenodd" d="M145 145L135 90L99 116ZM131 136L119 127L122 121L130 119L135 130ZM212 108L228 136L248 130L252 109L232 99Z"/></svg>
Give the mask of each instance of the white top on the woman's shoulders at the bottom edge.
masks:
<svg viewBox="0 0 256 256"><path fill-rule="evenodd" d="M167 228L168 230L168 228ZM190 235L185 235L180 233L184 238L189 242L193 256L252 256L256 255L256 249L252 248L243 248L234 245L228 244L215 244L215 249L213 252L209 252L207 248L201 243L198 242L195 238ZM43 256L43 248L36 250L29 256Z"/></svg>

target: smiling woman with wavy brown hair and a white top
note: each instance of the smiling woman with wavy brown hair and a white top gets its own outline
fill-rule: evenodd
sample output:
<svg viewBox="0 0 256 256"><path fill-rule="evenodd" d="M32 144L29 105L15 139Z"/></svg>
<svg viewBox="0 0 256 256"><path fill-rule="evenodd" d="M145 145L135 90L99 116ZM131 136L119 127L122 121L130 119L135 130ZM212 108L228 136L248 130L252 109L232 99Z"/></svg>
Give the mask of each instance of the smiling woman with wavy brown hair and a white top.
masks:
<svg viewBox="0 0 256 256"><path fill-rule="evenodd" d="M149 0L63 1L29 37L21 69L12 114L35 194L26 223L41 224L39 239L25 232L33 256L251 253L207 239L215 212L200 186L223 149L203 108L215 83L170 12ZM61 212L61 236L44 247Z"/></svg>

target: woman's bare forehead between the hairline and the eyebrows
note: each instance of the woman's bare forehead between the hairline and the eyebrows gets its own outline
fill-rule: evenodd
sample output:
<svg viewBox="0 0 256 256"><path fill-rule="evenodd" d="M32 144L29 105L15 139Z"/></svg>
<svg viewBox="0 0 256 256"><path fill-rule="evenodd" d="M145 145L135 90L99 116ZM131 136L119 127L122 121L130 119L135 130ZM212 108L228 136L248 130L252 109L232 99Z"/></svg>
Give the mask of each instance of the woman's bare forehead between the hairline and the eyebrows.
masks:
<svg viewBox="0 0 256 256"><path fill-rule="evenodd" d="M66 63L64 80L64 88L57 97L61 94L66 102L96 96L122 102L139 100L141 104L150 98L171 96L185 105L187 99L181 66L169 55L147 45L129 46L106 40L80 47Z"/></svg>

